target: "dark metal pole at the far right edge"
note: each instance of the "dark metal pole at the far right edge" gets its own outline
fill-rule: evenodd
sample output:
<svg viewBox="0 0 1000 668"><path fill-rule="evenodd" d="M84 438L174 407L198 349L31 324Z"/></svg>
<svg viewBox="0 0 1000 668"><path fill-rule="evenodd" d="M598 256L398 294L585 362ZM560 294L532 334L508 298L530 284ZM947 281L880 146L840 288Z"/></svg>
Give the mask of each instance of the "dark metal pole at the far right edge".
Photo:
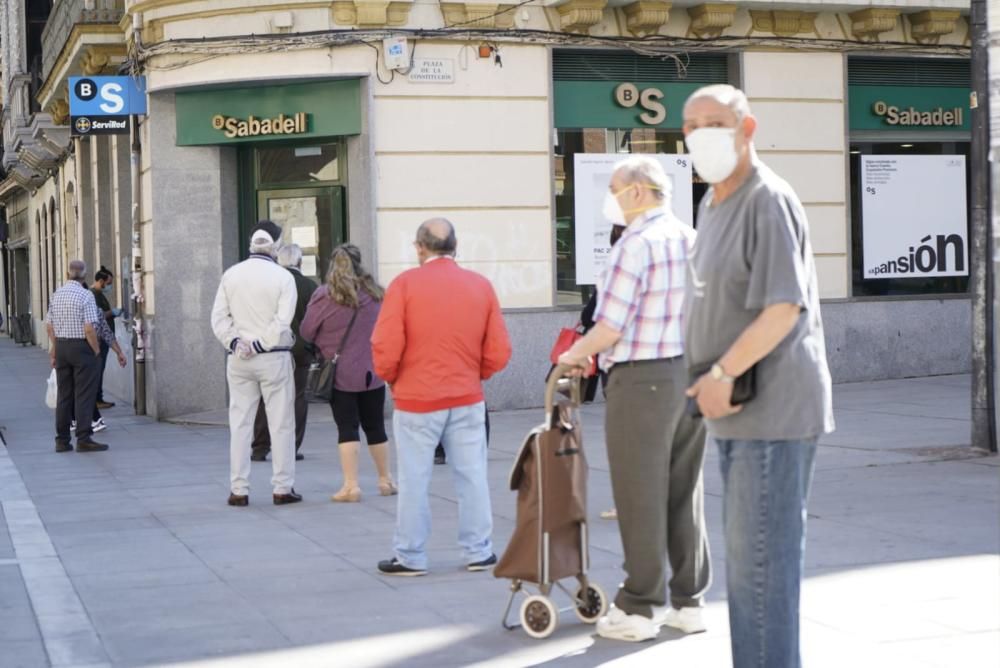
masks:
<svg viewBox="0 0 1000 668"><path fill-rule="evenodd" d="M972 293L972 447L996 449L993 387L993 267L989 164L989 54L986 0L972 0L972 146L969 283Z"/></svg>

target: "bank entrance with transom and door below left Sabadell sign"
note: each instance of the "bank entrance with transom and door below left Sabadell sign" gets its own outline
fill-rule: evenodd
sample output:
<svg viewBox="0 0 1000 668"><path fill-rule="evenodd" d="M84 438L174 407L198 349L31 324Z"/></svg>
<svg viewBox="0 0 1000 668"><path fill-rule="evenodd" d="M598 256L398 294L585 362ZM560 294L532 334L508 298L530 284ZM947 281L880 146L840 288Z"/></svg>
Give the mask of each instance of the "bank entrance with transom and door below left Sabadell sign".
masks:
<svg viewBox="0 0 1000 668"><path fill-rule="evenodd" d="M245 175L243 244L257 220L281 226L285 243L302 248L302 274L322 283L330 253L347 240L346 174L339 142L253 146L240 151Z"/></svg>

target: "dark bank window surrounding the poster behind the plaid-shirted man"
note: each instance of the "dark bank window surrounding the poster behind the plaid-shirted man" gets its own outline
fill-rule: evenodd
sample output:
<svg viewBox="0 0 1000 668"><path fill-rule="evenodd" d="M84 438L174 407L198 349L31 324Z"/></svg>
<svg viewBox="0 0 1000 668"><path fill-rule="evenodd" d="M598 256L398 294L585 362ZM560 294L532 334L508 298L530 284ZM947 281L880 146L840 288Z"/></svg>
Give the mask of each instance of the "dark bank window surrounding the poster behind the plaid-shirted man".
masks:
<svg viewBox="0 0 1000 668"><path fill-rule="evenodd" d="M574 159L581 153L620 153L624 159L637 153L685 153L680 130L658 128L587 128L558 130L555 147L556 193L556 302L586 303L593 285L577 284ZM697 208L708 186L694 176L693 201Z"/></svg>

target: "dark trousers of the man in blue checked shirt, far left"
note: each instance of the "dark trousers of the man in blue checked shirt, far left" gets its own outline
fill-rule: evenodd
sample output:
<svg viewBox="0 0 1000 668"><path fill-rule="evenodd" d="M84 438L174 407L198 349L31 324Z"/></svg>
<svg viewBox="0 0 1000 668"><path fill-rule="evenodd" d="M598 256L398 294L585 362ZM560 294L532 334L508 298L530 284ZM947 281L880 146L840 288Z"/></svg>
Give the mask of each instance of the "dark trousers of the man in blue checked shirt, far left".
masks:
<svg viewBox="0 0 1000 668"><path fill-rule="evenodd" d="M59 383L56 404L56 440L69 443L70 422L74 415L93 415L97 404L100 357L84 339L56 341L56 380ZM93 435L90 420L76 421L76 440L88 441Z"/></svg>

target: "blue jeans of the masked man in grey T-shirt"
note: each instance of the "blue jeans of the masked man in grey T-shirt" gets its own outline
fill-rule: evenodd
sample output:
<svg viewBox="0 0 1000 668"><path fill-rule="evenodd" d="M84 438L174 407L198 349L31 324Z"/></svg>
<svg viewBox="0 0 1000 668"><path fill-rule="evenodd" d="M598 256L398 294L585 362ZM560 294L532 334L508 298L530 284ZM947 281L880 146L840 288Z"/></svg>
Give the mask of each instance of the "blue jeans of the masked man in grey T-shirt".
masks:
<svg viewBox="0 0 1000 668"><path fill-rule="evenodd" d="M799 588L816 439L719 446L733 668L799 668Z"/></svg>

